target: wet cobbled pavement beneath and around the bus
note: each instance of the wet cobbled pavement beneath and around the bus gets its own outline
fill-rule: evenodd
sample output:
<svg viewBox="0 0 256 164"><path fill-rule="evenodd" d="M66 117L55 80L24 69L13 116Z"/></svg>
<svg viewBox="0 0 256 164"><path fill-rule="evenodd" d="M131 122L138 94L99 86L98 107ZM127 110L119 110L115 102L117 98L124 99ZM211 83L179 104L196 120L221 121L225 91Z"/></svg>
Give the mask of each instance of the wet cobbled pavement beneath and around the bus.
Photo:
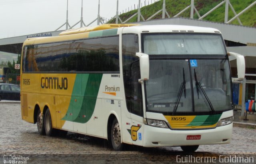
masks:
<svg viewBox="0 0 256 164"><path fill-rule="evenodd" d="M4 163L9 155L16 163L23 161L28 164L240 163L238 157L256 163L256 129L234 127L230 144L201 145L192 154L182 152L180 147L126 146L124 151L116 152L106 140L82 134L68 132L65 137L40 136L36 124L21 119L20 102L1 101L0 163Z"/></svg>

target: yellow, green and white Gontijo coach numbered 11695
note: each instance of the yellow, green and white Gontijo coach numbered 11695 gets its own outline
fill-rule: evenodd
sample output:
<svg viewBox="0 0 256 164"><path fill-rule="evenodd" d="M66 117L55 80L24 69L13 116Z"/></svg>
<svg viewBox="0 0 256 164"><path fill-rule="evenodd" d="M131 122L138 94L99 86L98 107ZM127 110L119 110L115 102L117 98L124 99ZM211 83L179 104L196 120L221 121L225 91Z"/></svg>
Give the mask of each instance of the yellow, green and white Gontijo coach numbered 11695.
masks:
<svg viewBox="0 0 256 164"><path fill-rule="evenodd" d="M104 138L114 150L228 144L233 104L219 30L104 24L28 38L22 49L22 119L41 135Z"/></svg>

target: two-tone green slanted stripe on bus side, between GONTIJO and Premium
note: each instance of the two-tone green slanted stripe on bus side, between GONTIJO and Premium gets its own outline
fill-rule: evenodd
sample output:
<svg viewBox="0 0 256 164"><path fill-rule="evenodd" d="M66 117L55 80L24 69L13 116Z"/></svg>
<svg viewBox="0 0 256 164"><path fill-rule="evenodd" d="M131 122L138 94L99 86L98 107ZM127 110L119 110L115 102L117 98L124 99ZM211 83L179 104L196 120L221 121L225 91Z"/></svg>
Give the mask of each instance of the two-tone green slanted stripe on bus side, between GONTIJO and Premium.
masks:
<svg viewBox="0 0 256 164"><path fill-rule="evenodd" d="M90 120L96 105L102 76L103 74L79 74L76 76L70 105L62 120L79 123L86 123ZM77 96L81 91L82 97Z"/></svg>

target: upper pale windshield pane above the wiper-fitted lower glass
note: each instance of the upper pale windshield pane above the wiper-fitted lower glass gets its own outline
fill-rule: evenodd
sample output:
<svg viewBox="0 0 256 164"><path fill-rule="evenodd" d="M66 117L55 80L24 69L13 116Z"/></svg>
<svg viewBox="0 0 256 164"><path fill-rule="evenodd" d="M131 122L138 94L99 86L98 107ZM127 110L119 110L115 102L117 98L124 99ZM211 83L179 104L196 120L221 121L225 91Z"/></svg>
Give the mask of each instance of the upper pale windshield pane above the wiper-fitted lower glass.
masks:
<svg viewBox="0 0 256 164"><path fill-rule="evenodd" d="M143 43L148 55L226 54L220 34L146 34Z"/></svg>

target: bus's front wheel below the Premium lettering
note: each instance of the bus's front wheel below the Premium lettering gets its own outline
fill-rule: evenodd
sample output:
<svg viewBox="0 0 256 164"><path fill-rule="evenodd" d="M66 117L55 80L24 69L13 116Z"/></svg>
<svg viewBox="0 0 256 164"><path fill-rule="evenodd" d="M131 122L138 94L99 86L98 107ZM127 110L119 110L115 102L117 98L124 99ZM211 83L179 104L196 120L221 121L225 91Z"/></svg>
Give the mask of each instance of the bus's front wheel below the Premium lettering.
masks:
<svg viewBox="0 0 256 164"><path fill-rule="evenodd" d="M124 144L121 143L121 129L116 118L114 118L112 122L110 135L113 149L116 151L121 151L124 147Z"/></svg>

